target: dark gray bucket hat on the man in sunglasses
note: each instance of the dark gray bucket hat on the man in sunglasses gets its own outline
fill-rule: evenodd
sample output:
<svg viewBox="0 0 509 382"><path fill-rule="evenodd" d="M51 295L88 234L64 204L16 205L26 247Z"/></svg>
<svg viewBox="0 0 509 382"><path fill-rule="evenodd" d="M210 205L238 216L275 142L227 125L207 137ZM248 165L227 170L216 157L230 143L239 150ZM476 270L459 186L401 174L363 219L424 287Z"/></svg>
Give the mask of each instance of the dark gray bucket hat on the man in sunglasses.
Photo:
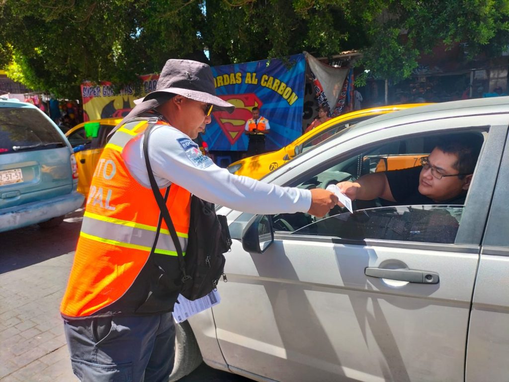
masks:
<svg viewBox="0 0 509 382"><path fill-rule="evenodd" d="M157 99L161 93L178 94L195 101L211 103L214 105L214 111L232 113L235 110L234 105L216 96L210 66L197 61L166 61L157 80L156 90L144 98L135 100L134 103Z"/></svg>

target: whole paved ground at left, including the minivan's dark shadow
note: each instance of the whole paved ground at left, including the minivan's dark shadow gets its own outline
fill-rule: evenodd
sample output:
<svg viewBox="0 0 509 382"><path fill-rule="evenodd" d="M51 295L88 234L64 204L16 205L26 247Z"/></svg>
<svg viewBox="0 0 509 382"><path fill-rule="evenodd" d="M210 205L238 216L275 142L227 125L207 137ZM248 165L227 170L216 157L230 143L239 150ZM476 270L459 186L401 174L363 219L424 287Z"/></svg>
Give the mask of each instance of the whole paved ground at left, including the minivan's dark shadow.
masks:
<svg viewBox="0 0 509 382"><path fill-rule="evenodd" d="M60 316L83 210L0 233L0 381L79 382Z"/></svg>

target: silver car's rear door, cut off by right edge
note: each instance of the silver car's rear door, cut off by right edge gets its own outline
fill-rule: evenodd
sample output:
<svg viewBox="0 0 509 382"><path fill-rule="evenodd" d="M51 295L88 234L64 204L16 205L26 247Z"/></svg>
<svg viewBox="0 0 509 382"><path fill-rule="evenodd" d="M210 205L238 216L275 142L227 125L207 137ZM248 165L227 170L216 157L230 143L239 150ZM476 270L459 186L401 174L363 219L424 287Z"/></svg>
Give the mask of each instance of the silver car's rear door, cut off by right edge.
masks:
<svg viewBox="0 0 509 382"><path fill-rule="evenodd" d="M491 202L475 281L468 330L465 381L509 375L509 139ZM498 168L493 166L492 171ZM491 194L488 195L491 197Z"/></svg>

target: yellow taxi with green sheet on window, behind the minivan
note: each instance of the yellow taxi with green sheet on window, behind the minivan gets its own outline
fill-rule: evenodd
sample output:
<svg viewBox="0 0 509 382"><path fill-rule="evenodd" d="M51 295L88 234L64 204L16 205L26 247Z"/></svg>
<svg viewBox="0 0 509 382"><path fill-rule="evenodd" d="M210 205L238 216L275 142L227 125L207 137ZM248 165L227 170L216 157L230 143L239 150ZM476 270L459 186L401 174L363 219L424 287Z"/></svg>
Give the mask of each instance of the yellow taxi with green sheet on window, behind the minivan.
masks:
<svg viewBox="0 0 509 382"><path fill-rule="evenodd" d="M80 123L65 133L78 164L78 192L89 194L90 183L108 133L122 118L103 118Z"/></svg>

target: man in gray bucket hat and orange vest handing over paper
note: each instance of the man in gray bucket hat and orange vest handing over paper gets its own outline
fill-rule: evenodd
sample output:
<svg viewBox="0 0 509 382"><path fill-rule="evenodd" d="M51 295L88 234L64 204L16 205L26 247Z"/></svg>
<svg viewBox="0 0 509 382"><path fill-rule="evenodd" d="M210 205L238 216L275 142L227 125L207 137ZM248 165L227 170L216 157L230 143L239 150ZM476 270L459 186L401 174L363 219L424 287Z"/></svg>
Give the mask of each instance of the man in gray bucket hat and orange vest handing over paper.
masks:
<svg viewBox="0 0 509 382"><path fill-rule="evenodd" d="M163 381L173 369L172 311L181 275L147 173L143 132L149 124L155 126L148 159L184 255L191 193L260 214L324 216L338 202L325 189L230 174L203 155L192 139L211 122L212 112L234 108L216 97L208 65L168 60L156 90L137 100L112 131L92 179L61 304L72 368L81 381Z"/></svg>

